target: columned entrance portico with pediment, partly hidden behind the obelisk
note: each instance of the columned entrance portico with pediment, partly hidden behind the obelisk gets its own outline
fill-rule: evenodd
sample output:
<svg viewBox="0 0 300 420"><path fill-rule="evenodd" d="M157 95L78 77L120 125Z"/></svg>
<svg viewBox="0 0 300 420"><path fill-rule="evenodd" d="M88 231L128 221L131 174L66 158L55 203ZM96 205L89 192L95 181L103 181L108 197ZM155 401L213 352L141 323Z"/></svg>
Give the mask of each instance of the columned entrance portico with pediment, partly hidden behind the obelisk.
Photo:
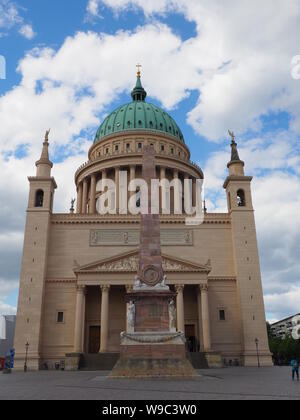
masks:
<svg viewBox="0 0 300 420"><path fill-rule="evenodd" d="M137 264L136 250L74 270L77 277L74 352L119 352L120 333L127 329L125 295L133 286ZM163 255L163 267L168 285L178 293L178 330L192 334L199 343L195 351L210 351L209 262L197 265ZM192 311L188 309L191 296Z"/></svg>

